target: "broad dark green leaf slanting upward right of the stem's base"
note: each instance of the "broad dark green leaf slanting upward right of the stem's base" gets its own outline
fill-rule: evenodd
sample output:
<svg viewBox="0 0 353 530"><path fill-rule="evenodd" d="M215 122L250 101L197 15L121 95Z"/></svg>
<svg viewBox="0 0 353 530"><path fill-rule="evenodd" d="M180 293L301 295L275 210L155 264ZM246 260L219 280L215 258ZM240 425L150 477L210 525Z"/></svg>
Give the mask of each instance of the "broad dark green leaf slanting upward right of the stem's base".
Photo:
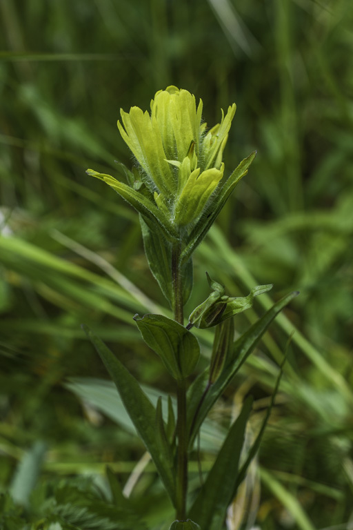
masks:
<svg viewBox="0 0 353 530"><path fill-rule="evenodd" d="M234 496L239 458L251 407L252 397L248 397L239 417L232 424L225 438L205 484L190 509L190 517L199 522L201 528L208 530L223 528L225 513Z"/></svg>

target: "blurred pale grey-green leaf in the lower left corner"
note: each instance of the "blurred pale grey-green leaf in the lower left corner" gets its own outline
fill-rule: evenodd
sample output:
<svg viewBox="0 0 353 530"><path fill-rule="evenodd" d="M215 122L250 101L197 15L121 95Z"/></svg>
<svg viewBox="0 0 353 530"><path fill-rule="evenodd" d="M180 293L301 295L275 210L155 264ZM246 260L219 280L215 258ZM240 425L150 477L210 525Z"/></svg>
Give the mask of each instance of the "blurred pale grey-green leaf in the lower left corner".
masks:
<svg viewBox="0 0 353 530"><path fill-rule="evenodd" d="M25 453L21 462L19 462L10 486L12 498L19 504L28 506L30 493L32 493L37 483L45 454L46 444L44 442L35 442L32 449Z"/></svg>

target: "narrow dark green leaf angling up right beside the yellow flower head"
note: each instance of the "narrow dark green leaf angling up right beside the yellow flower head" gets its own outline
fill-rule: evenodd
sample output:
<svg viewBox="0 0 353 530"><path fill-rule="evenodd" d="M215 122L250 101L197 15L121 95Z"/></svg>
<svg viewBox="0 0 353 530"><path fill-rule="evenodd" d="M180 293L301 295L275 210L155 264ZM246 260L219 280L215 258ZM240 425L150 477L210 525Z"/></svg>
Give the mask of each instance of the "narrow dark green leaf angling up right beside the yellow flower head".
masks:
<svg viewBox="0 0 353 530"><path fill-rule="evenodd" d="M255 156L256 152L254 151L254 153L251 153L251 155L241 161L239 166L234 169L232 175L230 175L223 186L221 186L221 189L217 190L214 198L210 201L208 217L201 217L190 233L188 244L185 246L183 253L181 254L182 263L185 263L190 259L196 246L201 243L205 235L208 233L208 230L210 230L236 184L238 184L244 175L248 173L248 168Z"/></svg>

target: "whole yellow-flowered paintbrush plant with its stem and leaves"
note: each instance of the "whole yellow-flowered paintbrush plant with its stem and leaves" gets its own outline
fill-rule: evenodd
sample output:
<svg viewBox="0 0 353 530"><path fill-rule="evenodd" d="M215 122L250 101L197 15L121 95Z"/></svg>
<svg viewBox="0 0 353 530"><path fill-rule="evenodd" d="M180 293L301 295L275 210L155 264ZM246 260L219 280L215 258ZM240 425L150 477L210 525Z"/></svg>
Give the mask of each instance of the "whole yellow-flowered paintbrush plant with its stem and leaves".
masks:
<svg viewBox="0 0 353 530"><path fill-rule="evenodd" d="M232 104L225 115L222 111L221 123L208 129L202 120L202 101L196 106L188 90L169 86L154 96L151 112L139 107L130 108L130 112L121 110L118 128L136 160L132 170L121 164L127 184L110 175L87 171L105 181L139 213L150 269L174 314L174 320L153 314L135 315L134 320L145 343L161 357L176 380L177 418L171 398L168 412L163 415L161 400L154 407L137 380L85 327L175 507L176 520L170 530L224 528L228 505L259 447L274 397L245 462L239 466L251 409L250 397L245 400L212 469L192 499L188 498L188 457L214 402L276 314L296 295L290 293L274 304L234 341L233 316L250 308L254 297L269 291L272 285L255 286L246 297L229 297L221 284L208 277L210 296L192 311L184 326L183 306L192 290L192 253L255 157L252 153L226 175L223 150L235 110ZM188 377L194 373L200 355L199 342L190 331L193 326L216 326L216 333L210 366L189 386Z"/></svg>

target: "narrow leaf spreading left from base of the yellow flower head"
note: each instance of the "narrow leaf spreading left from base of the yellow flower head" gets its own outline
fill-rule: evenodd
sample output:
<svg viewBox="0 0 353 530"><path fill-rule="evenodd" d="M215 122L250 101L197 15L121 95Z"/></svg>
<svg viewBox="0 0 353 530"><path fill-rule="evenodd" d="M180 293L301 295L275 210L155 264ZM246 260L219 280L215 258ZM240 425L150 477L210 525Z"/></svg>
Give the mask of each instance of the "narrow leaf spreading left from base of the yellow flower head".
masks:
<svg viewBox="0 0 353 530"><path fill-rule="evenodd" d="M114 179L111 175L105 175L104 173L97 173L93 169L88 169L86 171L88 175L92 177L97 177L97 179L103 180L108 186L113 188L125 201L127 201L135 210L137 210L141 215L150 219L150 221L159 225L163 230L163 233L167 239L175 239L177 237L177 232L172 225L172 222L166 215L163 214L157 206L145 197L142 193L130 188L127 184L120 182L117 179Z"/></svg>

